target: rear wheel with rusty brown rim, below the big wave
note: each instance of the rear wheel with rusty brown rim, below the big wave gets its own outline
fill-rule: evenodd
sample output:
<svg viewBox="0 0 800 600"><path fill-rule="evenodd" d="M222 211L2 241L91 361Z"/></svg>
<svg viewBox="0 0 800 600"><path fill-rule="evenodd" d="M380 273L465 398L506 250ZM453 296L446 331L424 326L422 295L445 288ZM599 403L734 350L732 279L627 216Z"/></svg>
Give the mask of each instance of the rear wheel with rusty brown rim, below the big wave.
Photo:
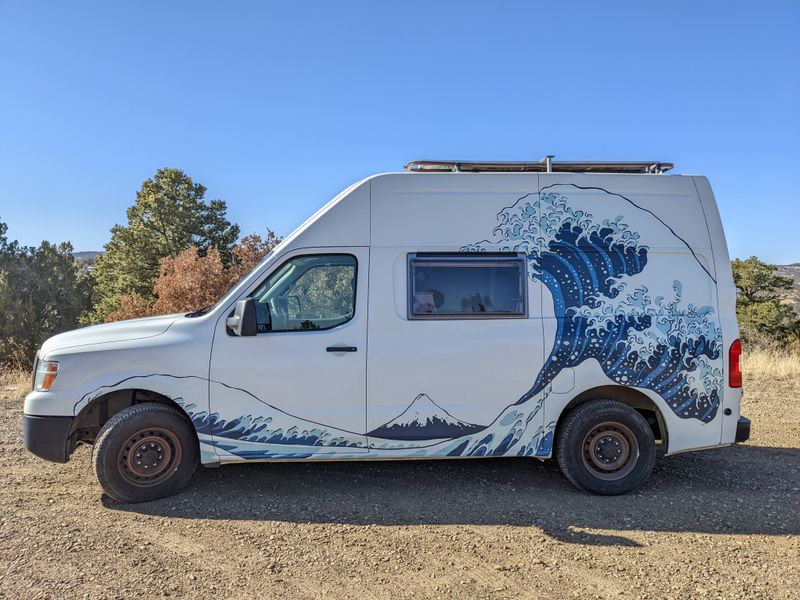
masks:
<svg viewBox="0 0 800 600"><path fill-rule="evenodd" d="M556 457L577 487L614 496L639 487L656 462L653 431L644 417L616 400L574 408L558 432Z"/></svg>

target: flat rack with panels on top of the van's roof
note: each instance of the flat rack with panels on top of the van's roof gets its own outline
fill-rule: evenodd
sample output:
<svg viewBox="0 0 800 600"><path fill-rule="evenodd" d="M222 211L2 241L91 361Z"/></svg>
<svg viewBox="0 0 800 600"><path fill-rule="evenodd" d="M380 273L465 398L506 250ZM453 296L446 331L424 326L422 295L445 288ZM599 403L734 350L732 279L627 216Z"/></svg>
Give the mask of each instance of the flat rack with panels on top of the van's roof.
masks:
<svg viewBox="0 0 800 600"><path fill-rule="evenodd" d="M405 165L411 173L666 173L675 165L661 161L562 162L548 154L538 162L474 160L415 160Z"/></svg>

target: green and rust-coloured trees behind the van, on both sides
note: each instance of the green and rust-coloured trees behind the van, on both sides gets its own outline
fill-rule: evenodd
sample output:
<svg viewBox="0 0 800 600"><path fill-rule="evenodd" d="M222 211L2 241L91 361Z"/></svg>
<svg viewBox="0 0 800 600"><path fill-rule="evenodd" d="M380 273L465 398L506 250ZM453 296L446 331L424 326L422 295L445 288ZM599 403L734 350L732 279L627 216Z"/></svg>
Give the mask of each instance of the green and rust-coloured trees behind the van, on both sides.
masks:
<svg viewBox="0 0 800 600"><path fill-rule="evenodd" d="M240 238L226 202L205 194L183 171L159 169L93 265L77 261L69 242L10 241L0 220L0 367L29 368L62 331L214 304L280 238L269 229ZM732 268L745 344L800 351L800 317L781 297L792 279L755 256Z"/></svg>

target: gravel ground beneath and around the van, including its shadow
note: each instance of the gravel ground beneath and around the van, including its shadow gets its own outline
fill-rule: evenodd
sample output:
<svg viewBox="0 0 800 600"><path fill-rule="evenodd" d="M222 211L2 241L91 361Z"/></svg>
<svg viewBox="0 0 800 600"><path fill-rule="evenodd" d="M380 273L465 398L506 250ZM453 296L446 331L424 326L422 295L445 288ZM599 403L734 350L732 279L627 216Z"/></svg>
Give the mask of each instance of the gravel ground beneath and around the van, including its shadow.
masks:
<svg viewBox="0 0 800 600"><path fill-rule="evenodd" d="M661 460L638 493L551 463L231 465L147 504L81 447L22 448L0 392L2 598L800 598L800 382L746 382L753 438Z"/></svg>

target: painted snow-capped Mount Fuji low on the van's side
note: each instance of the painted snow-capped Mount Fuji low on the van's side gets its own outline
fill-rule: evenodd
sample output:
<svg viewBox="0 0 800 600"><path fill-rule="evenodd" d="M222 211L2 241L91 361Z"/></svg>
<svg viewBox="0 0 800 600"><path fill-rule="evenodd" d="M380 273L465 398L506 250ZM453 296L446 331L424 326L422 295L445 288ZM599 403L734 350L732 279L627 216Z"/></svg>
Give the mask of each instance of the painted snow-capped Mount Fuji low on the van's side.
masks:
<svg viewBox="0 0 800 600"><path fill-rule="evenodd" d="M367 435L387 440L431 440L460 437L484 428L456 419L427 394L420 394L402 414Z"/></svg>

